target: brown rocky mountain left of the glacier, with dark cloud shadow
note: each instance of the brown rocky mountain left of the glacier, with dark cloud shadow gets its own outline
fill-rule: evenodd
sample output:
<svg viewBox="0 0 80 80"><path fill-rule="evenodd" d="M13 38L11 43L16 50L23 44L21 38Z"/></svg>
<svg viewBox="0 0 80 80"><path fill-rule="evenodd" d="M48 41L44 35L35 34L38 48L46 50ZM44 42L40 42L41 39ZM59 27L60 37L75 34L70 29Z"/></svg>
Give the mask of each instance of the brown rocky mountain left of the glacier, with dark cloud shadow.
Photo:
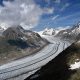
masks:
<svg viewBox="0 0 80 80"><path fill-rule="evenodd" d="M38 33L11 26L0 36L0 64L33 54L47 44Z"/></svg>

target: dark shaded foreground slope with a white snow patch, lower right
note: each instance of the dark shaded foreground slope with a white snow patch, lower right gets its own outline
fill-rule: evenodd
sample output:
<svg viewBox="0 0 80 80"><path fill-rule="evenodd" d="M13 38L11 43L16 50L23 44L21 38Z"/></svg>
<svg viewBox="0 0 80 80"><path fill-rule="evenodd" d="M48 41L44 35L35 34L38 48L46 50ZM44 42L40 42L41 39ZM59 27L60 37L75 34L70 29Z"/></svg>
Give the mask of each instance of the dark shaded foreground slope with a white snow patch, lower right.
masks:
<svg viewBox="0 0 80 80"><path fill-rule="evenodd" d="M80 41L25 80L80 80Z"/></svg>

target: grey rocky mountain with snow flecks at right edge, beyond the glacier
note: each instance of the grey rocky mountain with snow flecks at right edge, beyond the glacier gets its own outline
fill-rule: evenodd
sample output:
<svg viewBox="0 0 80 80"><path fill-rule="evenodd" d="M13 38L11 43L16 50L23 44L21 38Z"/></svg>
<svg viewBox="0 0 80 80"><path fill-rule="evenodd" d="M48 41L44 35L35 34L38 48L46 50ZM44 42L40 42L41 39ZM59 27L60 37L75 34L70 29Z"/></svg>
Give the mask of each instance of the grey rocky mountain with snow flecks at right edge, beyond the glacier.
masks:
<svg viewBox="0 0 80 80"><path fill-rule="evenodd" d="M80 23L74 25L72 28L61 30L56 36L63 39L77 40L80 35Z"/></svg>

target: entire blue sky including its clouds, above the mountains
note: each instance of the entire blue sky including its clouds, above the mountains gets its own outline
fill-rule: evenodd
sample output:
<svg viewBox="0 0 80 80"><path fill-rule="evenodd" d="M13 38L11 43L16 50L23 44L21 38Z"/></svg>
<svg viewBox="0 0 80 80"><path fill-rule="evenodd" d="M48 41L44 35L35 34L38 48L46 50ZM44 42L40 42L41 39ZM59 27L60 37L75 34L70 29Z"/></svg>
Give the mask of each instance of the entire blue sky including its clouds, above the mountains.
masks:
<svg viewBox="0 0 80 80"><path fill-rule="evenodd" d="M42 30L80 21L80 0L0 0L0 25Z"/></svg>

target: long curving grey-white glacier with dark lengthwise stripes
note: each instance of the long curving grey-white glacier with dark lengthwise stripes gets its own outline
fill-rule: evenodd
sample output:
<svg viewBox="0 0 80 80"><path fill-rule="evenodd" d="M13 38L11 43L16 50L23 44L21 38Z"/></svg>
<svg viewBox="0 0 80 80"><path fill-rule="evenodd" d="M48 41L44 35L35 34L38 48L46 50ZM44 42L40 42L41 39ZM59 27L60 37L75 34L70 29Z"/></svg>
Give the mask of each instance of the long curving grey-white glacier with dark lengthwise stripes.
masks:
<svg viewBox="0 0 80 80"><path fill-rule="evenodd" d="M70 43L67 41L62 41L49 36L46 36L46 39L47 38L51 43L35 55L0 66L0 78L8 79L19 75L21 77L23 73L29 76L32 72L41 68L43 65L55 58L60 52L70 46ZM17 79L19 79L19 77L16 78L16 80Z"/></svg>

